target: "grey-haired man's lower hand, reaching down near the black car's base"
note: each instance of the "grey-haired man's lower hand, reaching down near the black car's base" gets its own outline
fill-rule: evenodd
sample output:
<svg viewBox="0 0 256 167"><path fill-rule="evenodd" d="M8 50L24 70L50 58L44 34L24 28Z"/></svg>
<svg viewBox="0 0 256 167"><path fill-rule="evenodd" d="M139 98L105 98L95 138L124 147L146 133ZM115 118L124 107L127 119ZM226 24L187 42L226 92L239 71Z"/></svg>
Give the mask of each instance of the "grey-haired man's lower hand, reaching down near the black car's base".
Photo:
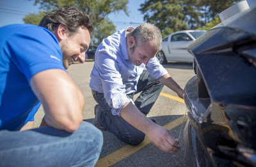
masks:
<svg viewBox="0 0 256 167"><path fill-rule="evenodd" d="M173 154L177 153L180 149L179 147L177 147L179 142L171 136L170 132L164 127L157 125L156 123L153 129L149 131L147 136L152 141L152 143L154 143L164 152Z"/></svg>

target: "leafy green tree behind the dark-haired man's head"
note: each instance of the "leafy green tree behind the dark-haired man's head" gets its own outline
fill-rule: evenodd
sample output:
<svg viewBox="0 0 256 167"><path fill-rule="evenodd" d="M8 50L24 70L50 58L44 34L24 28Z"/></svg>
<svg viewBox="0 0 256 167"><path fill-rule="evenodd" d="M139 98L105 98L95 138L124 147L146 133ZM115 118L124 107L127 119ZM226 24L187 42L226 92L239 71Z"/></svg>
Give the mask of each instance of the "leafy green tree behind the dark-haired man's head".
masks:
<svg viewBox="0 0 256 167"><path fill-rule="evenodd" d="M31 1L31 0L28 0ZM62 6L74 6L76 8L79 8L80 10L83 10L85 13L87 13L90 18L93 21L93 26L96 28L93 32L93 42L95 44L99 44L103 40L103 38L106 38L106 36L111 35L113 31L115 31L115 26L113 22L111 22L108 19L109 13L113 12L119 12L124 11L126 15L127 13L127 3L128 0L33 0L36 4L40 4L40 10L44 10L45 12L49 12L51 10L55 10L57 8L60 8ZM40 20L39 18L36 19L36 17L40 17L40 13L38 15L29 14L26 17L31 17L35 20ZM28 22L25 23L32 23L29 22L29 19L24 18ZM42 18L41 18L42 19ZM107 19L107 20L105 20ZM38 22L39 23L39 22ZM108 24L106 24L108 23ZM106 33L106 34L104 34ZM100 36L100 38L96 38Z"/></svg>

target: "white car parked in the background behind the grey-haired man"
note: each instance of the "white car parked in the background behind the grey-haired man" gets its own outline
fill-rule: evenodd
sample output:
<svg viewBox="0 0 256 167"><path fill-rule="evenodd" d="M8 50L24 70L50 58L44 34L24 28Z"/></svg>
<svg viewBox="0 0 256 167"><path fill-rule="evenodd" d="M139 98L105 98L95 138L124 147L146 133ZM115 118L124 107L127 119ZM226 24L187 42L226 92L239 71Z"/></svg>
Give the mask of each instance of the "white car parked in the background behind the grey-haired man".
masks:
<svg viewBox="0 0 256 167"><path fill-rule="evenodd" d="M157 59L161 64L167 61L193 62L194 58L186 48L205 32L205 30L184 30L165 36L162 40L162 49L156 54Z"/></svg>

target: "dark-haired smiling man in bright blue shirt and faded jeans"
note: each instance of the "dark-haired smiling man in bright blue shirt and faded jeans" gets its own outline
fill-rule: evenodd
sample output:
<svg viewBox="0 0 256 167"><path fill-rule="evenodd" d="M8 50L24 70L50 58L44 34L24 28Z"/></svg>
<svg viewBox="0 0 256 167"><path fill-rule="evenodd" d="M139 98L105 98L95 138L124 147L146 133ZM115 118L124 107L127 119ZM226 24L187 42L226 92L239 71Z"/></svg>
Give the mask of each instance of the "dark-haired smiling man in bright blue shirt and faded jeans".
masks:
<svg viewBox="0 0 256 167"><path fill-rule="evenodd" d="M84 62L92 30L88 15L68 6L40 26L0 28L0 166L97 162L102 132L83 122L84 97L66 71ZM47 126L31 129L41 102Z"/></svg>

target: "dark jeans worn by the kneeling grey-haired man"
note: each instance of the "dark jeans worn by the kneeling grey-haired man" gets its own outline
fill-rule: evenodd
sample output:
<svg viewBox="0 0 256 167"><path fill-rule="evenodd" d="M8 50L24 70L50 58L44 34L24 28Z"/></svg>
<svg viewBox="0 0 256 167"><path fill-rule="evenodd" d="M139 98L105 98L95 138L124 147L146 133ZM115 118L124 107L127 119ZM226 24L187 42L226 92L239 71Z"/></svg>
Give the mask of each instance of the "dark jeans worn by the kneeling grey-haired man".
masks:
<svg viewBox="0 0 256 167"><path fill-rule="evenodd" d="M147 70L144 70L138 81L137 92L127 95L133 99L136 93L142 91L140 96L134 101L134 104L145 115L149 113L164 86L157 79L148 77L148 75ZM111 107L108 105L103 93L96 91L93 94L93 98L100 106L97 114L97 122L100 125L129 145L139 145L143 141L145 138L143 132L126 122L121 116L112 115Z"/></svg>

